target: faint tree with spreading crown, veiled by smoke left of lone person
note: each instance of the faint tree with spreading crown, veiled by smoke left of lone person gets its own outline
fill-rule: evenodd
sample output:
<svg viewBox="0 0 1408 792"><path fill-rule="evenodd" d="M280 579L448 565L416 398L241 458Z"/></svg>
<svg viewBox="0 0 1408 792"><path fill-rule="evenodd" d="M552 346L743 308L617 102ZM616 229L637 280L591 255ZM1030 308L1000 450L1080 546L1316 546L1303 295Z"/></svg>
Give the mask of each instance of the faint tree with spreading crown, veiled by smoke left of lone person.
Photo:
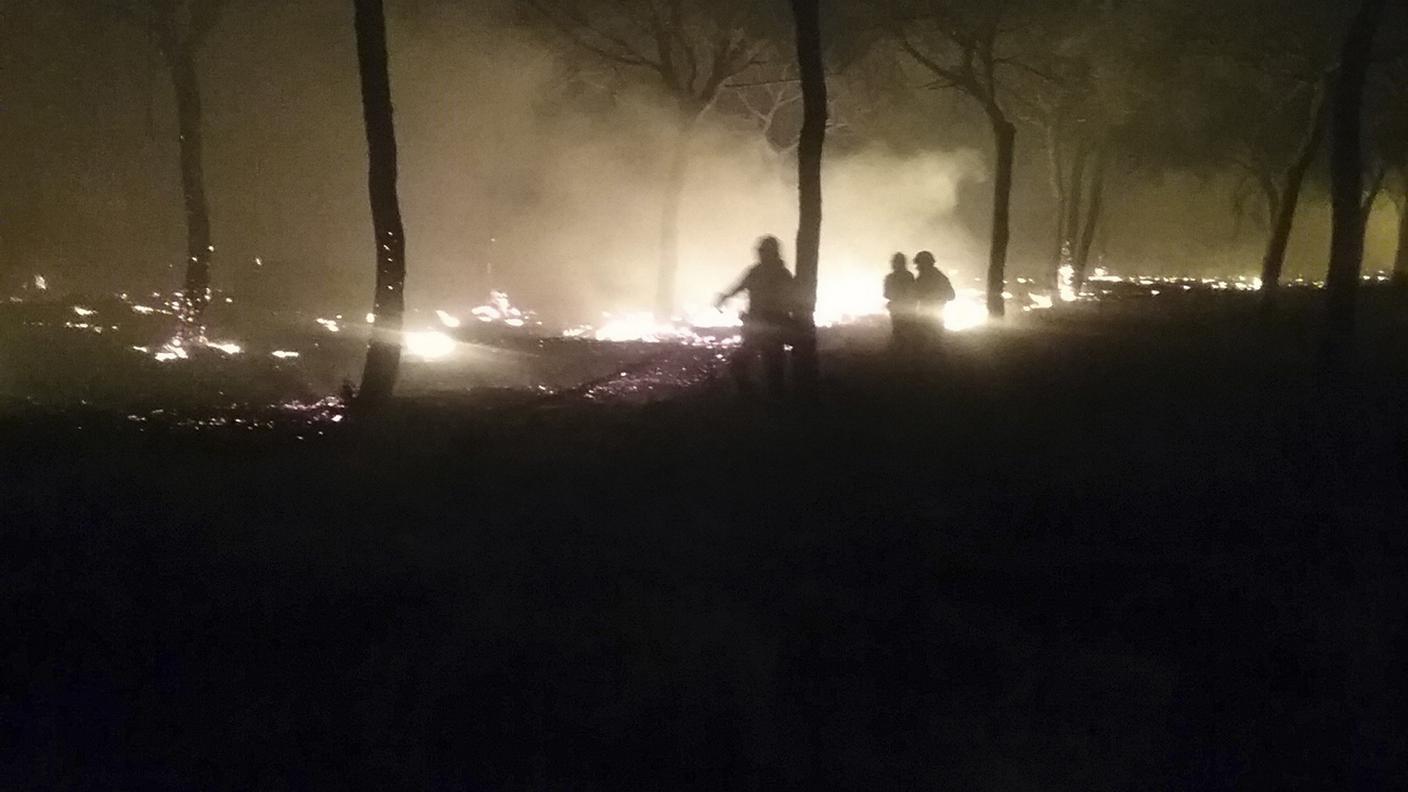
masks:
<svg viewBox="0 0 1408 792"><path fill-rule="evenodd" d="M680 203L690 137L724 83L756 63L773 18L756 0L524 0L559 34L593 55L648 70L674 100L674 151L660 202L655 313L674 311Z"/></svg>

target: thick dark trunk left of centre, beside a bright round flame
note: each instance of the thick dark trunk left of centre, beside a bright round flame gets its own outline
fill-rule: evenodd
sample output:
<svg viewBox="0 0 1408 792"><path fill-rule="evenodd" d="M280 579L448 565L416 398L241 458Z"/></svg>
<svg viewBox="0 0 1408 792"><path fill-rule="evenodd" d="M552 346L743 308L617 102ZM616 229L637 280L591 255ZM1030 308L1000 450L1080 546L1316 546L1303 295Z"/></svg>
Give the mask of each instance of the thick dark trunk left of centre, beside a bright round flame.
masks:
<svg viewBox="0 0 1408 792"><path fill-rule="evenodd" d="M396 124L391 117L391 79L387 69L386 13L382 0L353 0L356 54L362 76L362 114L366 123L367 192L376 244L376 293L372 342L366 351L358 403L390 400L401 364L401 320L406 313L406 234L396 194Z"/></svg>

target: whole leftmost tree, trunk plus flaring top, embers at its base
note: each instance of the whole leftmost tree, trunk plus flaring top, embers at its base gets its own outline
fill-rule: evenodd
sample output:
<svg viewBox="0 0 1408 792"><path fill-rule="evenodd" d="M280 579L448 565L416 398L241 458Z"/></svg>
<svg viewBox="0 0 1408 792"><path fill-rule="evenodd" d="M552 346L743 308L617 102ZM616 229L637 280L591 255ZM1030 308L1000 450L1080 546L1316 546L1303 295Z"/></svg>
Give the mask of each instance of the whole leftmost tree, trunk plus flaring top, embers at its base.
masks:
<svg viewBox="0 0 1408 792"><path fill-rule="evenodd" d="M172 79L176 99L176 140L180 151L182 199L186 210L186 279L182 285L182 334L201 333L210 304L210 264L215 247L210 235L203 162L203 114L196 55L228 0L117 0L103 7L117 11L156 44Z"/></svg>

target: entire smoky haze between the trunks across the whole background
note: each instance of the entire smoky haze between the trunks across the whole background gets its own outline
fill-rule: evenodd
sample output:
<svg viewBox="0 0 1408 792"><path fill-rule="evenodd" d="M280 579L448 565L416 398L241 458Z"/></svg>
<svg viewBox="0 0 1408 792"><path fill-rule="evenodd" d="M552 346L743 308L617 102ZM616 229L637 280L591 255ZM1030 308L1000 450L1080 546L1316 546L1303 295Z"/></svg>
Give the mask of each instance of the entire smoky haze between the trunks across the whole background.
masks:
<svg viewBox="0 0 1408 792"><path fill-rule="evenodd" d="M565 321L646 310L676 142L669 97L649 72L604 68L487 6L389 4L411 307L466 309L496 287ZM0 31L0 44L23 44L6 49L0 264L15 278L45 273L58 292L176 287L176 124L152 42L82 14L35 18L42 24L17 14ZM373 245L349 6L235 1L199 70L215 286L246 303L366 310ZM879 303L895 251L932 249L959 286L981 276L990 152L981 132L964 131L972 107L932 96L942 94L887 100L877 125L903 148L853 130L832 135L824 304ZM724 107L690 141L677 289L686 309L728 286L763 234L791 256L796 165ZM1022 135L1019 147L1011 278L1053 264L1039 141ZM1252 228L1232 237L1229 190L1114 173L1097 254L1125 273L1255 273L1262 238ZM1307 196L1302 214L1288 272L1318 276L1324 202ZM1380 213L1370 225L1369 269L1391 255L1390 220Z"/></svg>

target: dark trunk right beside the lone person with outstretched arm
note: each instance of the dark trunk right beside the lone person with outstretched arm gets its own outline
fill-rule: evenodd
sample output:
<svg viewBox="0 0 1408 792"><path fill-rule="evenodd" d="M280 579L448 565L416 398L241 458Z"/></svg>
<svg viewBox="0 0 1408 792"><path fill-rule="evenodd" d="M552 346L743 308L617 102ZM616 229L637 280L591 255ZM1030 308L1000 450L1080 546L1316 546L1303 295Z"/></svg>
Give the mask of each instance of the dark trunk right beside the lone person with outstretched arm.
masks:
<svg viewBox="0 0 1408 792"><path fill-rule="evenodd" d="M826 70L821 48L818 0L791 0L797 24L803 123L797 138L797 323L793 344L797 388L814 395L817 361L817 275L821 258L821 158L826 144Z"/></svg>

